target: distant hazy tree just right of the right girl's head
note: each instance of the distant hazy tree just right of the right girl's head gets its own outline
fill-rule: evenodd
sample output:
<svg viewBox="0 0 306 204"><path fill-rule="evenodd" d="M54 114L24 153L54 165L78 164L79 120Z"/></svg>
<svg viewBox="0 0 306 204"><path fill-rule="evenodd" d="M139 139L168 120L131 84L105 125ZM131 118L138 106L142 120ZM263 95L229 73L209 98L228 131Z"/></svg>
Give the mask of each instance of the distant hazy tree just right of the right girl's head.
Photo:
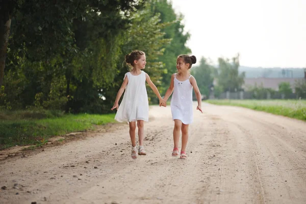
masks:
<svg viewBox="0 0 306 204"><path fill-rule="evenodd" d="M201 94L206 95L208 97L210 95L210 89L214 81L214 67L208 64L207 59L203 57L198 63L198 66L192 67L191 74L195 78Z"/></svg>

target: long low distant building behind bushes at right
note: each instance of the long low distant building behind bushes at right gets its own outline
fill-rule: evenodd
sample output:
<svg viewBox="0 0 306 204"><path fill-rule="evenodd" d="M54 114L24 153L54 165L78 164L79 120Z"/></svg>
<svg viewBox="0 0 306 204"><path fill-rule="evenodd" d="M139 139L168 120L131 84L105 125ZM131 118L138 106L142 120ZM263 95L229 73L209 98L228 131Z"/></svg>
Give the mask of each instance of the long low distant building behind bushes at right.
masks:
<svg viewBox="0 0 306 204"><path fill-rule="evenodd" d="M281 82L289 82L292 90L295 92L295 82L299 80L306 80L304 78L245 78L242 88L248 90L250 87L263 86L264 88L271 88L278 91L278 84Z"/></svg>

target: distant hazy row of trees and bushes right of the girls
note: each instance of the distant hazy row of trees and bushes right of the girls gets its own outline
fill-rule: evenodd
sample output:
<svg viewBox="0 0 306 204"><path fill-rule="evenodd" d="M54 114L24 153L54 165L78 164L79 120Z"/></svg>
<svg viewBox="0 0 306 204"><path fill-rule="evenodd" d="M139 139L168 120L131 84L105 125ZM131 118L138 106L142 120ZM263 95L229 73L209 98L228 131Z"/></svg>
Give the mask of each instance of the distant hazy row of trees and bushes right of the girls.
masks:
<svg viewBox="0 0 306 204"><path fill-rule="evenodd" d="M291 85L286 82L279 83L278 90L265 88L262 85L247 87L245 90L242 88L245 79L245 72L239 71L239 55L232 59L218 59L218 66L214 66L208 59L201 58L197 66L192 67L192 74L194 75L200 92L208 98L211 94L214 97L219 97L221 93L250 91L254 92L253 98L264 98L267 93L271 97L277 93L283 94L288 98L290 94L295 91L297 98L306 98L306 81L299 80L295 83L294 90Z"/></svg>

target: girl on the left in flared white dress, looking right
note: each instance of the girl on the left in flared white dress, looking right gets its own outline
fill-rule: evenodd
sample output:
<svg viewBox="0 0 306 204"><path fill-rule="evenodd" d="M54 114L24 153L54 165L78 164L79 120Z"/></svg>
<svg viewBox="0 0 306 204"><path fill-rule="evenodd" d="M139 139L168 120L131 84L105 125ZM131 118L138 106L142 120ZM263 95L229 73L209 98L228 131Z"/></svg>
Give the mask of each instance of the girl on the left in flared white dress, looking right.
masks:
<svg viewBox="0 0 306 204"><path fill-rule="evenodd" d="M154 93L160 100L160 106L166 106L166 101L161 97L158 89L150 80L147 73L142 71L146 64L145 53L139 50L133 51L125 56L125 62L130 65L130 72L125 73L123 83L118 91L114 106L111 110L117 109L115 120L119 122L129 122L130 137L132 141L132 158L137 159L138 155L146 155L143 147L144 140L144 121L148 121L149 102L145 88L145 82L149 84ZM123 99L120 106L118 105L121 95ZM136 121L138 127L139 148L136 145Z"/></svg>

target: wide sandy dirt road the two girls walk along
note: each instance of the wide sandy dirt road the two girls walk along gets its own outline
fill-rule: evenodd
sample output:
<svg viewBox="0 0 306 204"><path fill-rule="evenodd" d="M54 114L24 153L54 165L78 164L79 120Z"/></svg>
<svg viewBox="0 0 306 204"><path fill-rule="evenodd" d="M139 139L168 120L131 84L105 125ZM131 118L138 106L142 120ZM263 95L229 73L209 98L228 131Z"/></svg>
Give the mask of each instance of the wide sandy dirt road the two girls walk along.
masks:
<svg viewBox="0 0 306 204"><path fill-rule="evenodd" d="M187 160L171 157L170 107L154 106L147 156L131 159L129 127L120 124L10 157L0 161L0 203L306 203L306 122L203 109L194 112Z"/></svg>

